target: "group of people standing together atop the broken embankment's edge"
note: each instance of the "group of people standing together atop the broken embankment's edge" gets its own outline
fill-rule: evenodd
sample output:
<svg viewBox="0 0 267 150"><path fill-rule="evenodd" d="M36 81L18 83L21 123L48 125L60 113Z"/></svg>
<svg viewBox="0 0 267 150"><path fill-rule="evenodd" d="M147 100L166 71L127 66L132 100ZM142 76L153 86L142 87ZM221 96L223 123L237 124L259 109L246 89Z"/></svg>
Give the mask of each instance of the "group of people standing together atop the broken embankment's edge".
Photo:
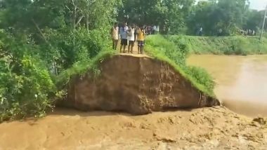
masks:
<svg viewBox="0 0 267 150"><path fill-rule="evenodd" d="M128 26L127 22L124 22L124 25L119 27L119 25L115 23L110 34L112 36L112 48L114 50L117 50L120 39L120 53L126 52L126 46L128 46L128 53L133 53L134 43L137 41L138 54L143 54L145 46L145 27L137 27L135 25Z"/></svg>

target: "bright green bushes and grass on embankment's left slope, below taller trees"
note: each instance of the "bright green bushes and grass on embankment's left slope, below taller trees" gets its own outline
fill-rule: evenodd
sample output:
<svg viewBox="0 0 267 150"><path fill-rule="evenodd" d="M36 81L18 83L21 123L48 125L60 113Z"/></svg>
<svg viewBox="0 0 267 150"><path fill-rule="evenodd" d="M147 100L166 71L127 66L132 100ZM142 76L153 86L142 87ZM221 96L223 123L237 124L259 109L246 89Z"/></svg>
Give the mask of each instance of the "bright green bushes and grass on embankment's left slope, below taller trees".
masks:
<svg viewBox="0 0 267 150"><path fill-rule="evenodd" d="M56 100L65 97L65 85L72 76L83 75L89 69L93 75L99 74L99 62L116 52L108 46L107 39L96 37L87 34L88 41L79 41L79 50L56 50L52 53L58 55L53 56L34 43L0 31L0 123L28 116L45 116L48 109L53 109ZM72 45L71 41L65 44ZM91 55L92 52L95 54ZM49 55L58 57L59 62L55 62L58 75Z"/></svg>

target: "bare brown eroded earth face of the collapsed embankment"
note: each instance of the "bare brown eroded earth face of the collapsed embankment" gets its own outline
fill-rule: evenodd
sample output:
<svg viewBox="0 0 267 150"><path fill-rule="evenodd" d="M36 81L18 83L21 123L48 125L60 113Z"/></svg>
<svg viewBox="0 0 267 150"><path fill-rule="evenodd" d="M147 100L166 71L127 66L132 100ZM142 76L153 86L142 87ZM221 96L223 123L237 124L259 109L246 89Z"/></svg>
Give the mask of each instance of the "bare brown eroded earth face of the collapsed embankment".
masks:
<svg viewBox="0 0 267 150"><path fill-rule="evenodd" d="M166 62L150 57L115 55L100 64L100 76L72 78L66 107L84 111L149 114L173 108L200 108L219 101L194 88Z"/></svg>

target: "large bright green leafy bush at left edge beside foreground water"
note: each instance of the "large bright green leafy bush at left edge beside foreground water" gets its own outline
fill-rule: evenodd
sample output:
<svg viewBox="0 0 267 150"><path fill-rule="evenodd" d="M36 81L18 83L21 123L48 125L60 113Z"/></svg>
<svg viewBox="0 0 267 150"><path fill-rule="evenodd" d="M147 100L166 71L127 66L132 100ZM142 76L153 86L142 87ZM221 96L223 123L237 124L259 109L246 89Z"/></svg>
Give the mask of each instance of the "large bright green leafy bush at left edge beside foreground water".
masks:
<svg viewBox="0 0 267 150"><path fill-rule="evenodd" d="M0 38L0 122L43 116L52 107L56 88L44 63L32 53L37 49L3 32Z"/></svg>

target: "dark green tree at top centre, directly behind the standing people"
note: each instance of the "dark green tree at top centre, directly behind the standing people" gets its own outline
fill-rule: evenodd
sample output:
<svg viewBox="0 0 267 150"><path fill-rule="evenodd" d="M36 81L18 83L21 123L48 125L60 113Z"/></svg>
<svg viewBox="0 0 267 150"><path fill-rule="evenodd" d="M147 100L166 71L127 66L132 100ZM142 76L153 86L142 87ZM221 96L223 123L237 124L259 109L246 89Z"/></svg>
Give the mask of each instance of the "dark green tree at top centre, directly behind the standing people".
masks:
<svg viewBox="0 0 267 150"><path fill-rule="evenodd" d="M123 0L119 11L119 21L138 25L160 25L178 32L185 26L193 0Z"/></svg>

